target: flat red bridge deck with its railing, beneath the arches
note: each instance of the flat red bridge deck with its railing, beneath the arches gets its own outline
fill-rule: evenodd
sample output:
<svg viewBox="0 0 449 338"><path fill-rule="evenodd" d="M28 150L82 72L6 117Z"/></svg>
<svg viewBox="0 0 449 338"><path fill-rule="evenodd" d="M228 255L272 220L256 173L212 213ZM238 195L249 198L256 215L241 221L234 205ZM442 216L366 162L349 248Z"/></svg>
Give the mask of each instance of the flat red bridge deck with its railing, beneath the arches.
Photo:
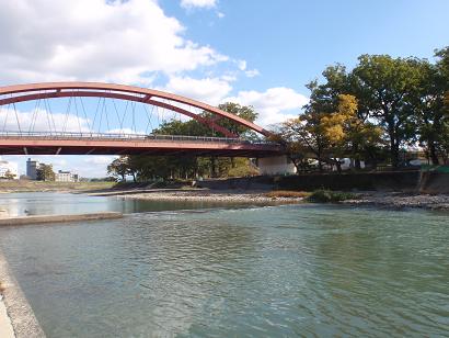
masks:
<svg viewBox="0 0 449 338"><path fill-rule="evenodd" d="M0 133L0 155L278 156L283 147L241 138L95 133Z"/></svg>

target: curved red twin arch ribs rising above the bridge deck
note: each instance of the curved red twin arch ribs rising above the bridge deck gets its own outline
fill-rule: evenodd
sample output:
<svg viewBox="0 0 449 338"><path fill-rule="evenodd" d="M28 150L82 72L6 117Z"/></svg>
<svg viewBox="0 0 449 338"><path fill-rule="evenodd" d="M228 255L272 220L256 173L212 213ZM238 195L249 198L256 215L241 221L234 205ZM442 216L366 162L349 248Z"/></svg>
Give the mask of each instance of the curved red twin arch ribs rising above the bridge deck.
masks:
<svg viewBox="0 0 449 338"><path fill-rule="evenodd" d="M139 88L125 84L101 83L101 82L46 82L0 87L0 106L11 103L26 102L39 99L53 98L111 98L118 100L127 100L140 102L149 105L156 105L195 119L202 124L205 124L217 132L220 132L226 137L237 138L238 135L228 131L223 126L217 124L220 119L228 119L234 123L243 125L258 134L269 136L270 133L265 128L246 121L240 116L228 113L212 105L188 99L182 95L154 90ZM215 119L207 119L200 114L192 113L183 108L158 100L168 100L200 109L214 114Z"/></svg>

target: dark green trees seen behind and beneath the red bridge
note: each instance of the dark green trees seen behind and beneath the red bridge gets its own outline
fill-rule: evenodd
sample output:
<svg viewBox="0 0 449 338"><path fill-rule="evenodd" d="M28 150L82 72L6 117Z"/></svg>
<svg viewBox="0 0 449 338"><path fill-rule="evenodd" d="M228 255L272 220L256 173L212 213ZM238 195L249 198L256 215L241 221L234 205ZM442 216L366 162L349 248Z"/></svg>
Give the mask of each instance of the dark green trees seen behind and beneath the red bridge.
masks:
<svg viewBox="0 0 449 338"><path fill-rule="evenodd" d="M252 106L225 103L218 108L251 122L254 122L257 117L257 113ZM212 119L212 115L208 112L203 112L202 117ZM216 123L231 131L239 137L256 137L247 127L229 121L228 119L218 120ZM166 121L152 133L159 135L225 136L219 131L215 131L196 120ZM107 166L107 173L117 180L125 180L126 177L133 177L135 182L146 182L157 179L238 177L255 174L257 171L247 158L195 157L188 154L177 154L176 156L120 156Z"/></svg>

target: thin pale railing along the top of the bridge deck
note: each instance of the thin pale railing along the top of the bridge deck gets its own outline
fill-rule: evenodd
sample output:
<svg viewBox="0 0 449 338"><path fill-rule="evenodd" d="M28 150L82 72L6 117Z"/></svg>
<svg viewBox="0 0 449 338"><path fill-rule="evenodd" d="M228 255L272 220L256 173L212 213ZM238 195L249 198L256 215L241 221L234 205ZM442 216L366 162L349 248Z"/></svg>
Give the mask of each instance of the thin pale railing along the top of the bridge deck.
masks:
<svg viewBox="0 0 449 338"><path fill-rule="evenodd" d="M184 135L160 135L160 134L118 134L118 133L77 133L77 132L0 132L0 138L38 138L38 139L96 139L96 140L186 140L186 142L211 142L228 144L252 144L252 145L278 145L269 140L250 140L231 137L209 136L184 136Z"/></svg>

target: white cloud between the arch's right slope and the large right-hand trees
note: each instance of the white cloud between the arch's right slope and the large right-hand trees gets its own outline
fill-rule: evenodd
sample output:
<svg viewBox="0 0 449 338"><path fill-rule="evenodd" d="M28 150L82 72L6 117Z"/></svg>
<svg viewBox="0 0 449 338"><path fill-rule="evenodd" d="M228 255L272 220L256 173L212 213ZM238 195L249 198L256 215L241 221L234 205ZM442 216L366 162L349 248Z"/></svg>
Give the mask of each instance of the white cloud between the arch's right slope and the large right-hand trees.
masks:
<svg viewBox="0 0 449 338"><path fill-rule="evenodd" d="M227 98L223 101L253 105L258 113L256 123L269 126L298 116L309 99L291 88L276 87L269 88L265 92L240 91L235 97Z"/></svg>

